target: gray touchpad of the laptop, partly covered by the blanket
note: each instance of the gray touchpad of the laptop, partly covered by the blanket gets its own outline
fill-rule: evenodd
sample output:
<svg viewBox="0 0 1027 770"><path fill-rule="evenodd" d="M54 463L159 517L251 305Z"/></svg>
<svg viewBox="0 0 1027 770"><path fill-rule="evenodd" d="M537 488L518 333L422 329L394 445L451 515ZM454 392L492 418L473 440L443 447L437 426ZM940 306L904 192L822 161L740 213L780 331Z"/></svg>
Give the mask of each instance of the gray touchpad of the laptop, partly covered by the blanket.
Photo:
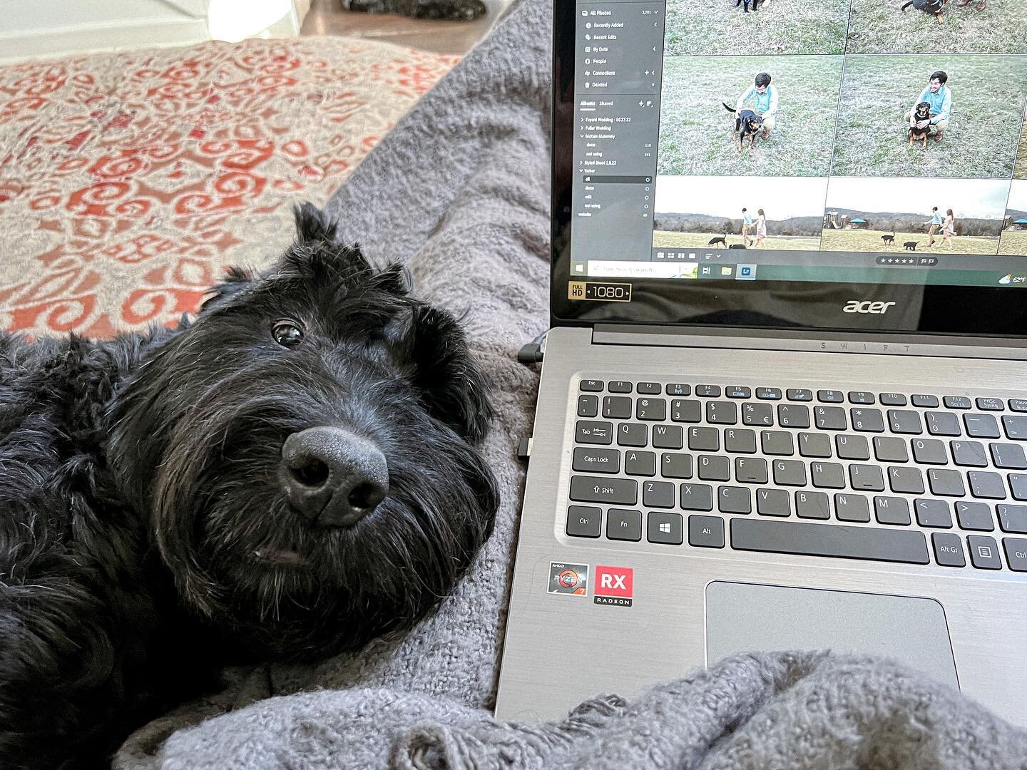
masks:
<svg viewBox="0 0 1027 770"><path fill-rule="evenodd" d="M706 595L708 664L736 652L831 650L896 658L959 686L933 599L721 581Z"/></svg>

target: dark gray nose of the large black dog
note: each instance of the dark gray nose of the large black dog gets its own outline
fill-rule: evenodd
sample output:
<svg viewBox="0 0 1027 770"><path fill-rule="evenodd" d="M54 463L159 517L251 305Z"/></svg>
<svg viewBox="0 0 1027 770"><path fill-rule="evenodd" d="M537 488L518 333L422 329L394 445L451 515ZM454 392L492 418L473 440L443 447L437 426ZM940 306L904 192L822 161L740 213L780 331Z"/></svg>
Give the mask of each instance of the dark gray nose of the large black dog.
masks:
<svg viewBox="0 0 1027 770"><path fill-rule="evenodd" d="M385 455L343 428L293 433L281 446L281 463L290 502L318 527L351 527L388 494Z"/></svg>

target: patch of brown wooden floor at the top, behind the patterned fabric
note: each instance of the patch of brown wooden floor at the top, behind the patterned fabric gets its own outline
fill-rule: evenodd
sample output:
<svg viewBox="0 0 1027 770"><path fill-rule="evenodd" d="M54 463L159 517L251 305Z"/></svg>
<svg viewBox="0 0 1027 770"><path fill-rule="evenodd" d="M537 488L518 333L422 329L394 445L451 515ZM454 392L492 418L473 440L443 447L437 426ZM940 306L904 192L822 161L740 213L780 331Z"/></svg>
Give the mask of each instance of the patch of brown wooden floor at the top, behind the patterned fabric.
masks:
<svg viewBox="0 0 1027 770"><path fill-rule="evenodd" d="M345 35L435 53L463 54L485 37L508 0L483 0L489 11L473 22L407 18L392 13L342 10L340 0L313 0L301 35Z"/></svg>

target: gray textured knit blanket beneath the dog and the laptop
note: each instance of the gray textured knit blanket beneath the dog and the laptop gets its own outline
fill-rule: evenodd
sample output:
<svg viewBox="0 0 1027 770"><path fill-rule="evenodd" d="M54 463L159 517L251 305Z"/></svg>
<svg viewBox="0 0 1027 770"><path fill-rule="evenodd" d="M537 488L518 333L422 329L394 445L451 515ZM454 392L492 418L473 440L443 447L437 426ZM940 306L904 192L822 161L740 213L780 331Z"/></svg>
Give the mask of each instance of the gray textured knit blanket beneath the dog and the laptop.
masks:
<svg viewBox="0 0 1027 770"><path fill-rule="evenodd" d="M889 662L753 654L600 695L565 720L492 719L504 596L547 321L550 6L520 0L328 203L340 238L402 262L467 312L498 419L495 534L440 611L402 639L309 666L229 672L226 690L134 735L154 768L1027 768L1027 735ZM270 697L274 696L274 697ZM256 701L256 702L255 702Z"/></svg>

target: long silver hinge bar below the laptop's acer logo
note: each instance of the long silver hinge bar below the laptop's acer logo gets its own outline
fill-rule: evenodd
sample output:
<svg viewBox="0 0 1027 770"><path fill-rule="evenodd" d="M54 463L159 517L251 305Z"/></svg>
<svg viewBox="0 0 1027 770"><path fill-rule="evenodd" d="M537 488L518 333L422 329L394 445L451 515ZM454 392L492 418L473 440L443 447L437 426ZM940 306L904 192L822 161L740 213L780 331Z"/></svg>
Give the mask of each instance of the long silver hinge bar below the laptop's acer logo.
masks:
<svg viewBox="0 0 1027 770"><path fill-rule="evenodd" d="M844 334L710 326L597 323L595 345L735 348L875 355L944 356L1027 360L1027 340L913 334Z"/></svg>

